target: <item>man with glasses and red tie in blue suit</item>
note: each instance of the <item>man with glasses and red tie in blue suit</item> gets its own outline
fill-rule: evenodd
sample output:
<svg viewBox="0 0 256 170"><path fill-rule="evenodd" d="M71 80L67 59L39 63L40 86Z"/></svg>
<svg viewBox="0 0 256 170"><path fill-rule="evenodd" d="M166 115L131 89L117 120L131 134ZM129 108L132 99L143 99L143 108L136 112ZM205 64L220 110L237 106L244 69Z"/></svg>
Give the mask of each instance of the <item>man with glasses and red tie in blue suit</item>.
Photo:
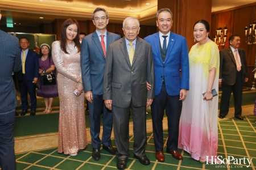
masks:
<svg viewBox="0 0 256 170"><path fill-rule="evenodd" d="M106 52L110 43L119 39L119 36L106 31L109 23L108 12L104 8L93 11L93 24L96 31L82 39L81 44L81 70L82 84L85 97L89 101L90 135L92 137L92 158L100 160L100 147L115 154L110 139L113 127L112 112L105 107L103 100L103 78L105 71ZM103 107L103 133L100 139L101 110Z"/></svg>

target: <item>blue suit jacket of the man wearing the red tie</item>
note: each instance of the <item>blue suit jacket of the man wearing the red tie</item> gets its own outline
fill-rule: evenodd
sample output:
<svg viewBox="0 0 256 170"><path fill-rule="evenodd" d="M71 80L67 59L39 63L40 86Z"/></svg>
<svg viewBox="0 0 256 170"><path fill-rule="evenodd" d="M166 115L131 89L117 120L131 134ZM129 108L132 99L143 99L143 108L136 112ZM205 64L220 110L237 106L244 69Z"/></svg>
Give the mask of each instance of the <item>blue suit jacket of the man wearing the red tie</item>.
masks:
<svg viewBox="0 0 256 170"><path fill-rule="evenodd" d="M114 33L106 33L106 52L109 44L119 40L120 37ZM101 42L96 31L85 36L81 44L81 71L84 91L91 90L95 95L103 94L103 78L105 72L106 58L101 47Z"/></svg>

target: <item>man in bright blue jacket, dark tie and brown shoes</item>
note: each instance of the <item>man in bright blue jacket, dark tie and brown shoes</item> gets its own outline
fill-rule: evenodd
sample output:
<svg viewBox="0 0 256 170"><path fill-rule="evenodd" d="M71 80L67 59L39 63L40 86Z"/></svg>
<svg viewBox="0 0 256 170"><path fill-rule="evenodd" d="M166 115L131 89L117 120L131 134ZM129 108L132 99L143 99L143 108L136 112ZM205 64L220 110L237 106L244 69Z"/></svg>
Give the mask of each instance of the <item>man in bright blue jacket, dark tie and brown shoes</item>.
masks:
<svg viewBox="0 0 256 170"><path fill-rule="evenodd" d="M164 162L164 109L168 120L166 152L172 154L175 159L183 159L177 152L177 142L182 101L189 89L188 46L183 36L170 31L173 22L170 9L159 10L156 19L159 32L147 36L144 40L152 46L155 66L155 100L151 105L155 157L159 162Z"/></svg>

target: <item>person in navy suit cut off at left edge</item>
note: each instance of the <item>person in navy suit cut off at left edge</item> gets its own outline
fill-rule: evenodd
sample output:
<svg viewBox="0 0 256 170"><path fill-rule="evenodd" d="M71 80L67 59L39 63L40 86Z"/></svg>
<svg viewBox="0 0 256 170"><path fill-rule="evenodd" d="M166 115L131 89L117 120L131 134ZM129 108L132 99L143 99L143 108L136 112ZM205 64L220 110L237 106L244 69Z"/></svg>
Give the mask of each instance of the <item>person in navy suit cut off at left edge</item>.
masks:
<svg viewBox="0 0 256 170"><path fill-rule="evenodd" d="M13 126L17 102L12 73L21 69L20 48L18 38L1 30L0 37L0 167L14 170Z"/></svg>

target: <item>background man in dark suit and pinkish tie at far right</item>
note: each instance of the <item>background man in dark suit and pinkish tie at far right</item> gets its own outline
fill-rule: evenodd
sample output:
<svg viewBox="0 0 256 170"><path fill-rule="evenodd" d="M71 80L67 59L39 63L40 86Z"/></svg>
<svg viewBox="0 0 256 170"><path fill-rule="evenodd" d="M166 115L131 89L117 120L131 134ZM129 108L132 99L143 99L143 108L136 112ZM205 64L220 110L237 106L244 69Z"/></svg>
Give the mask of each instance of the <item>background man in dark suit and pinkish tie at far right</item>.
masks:
<svg viewBox="0 0 256 170"><path fill-rule="evenodd" d="M242 90L244 82L248 80L245 50L240 49L241 39L238 35L229 37L229 48L220 50L220 80L222 86L220 118L224 118L229 112L229 99L234 95L234 116L243 120L242 114Z"/></svg>

